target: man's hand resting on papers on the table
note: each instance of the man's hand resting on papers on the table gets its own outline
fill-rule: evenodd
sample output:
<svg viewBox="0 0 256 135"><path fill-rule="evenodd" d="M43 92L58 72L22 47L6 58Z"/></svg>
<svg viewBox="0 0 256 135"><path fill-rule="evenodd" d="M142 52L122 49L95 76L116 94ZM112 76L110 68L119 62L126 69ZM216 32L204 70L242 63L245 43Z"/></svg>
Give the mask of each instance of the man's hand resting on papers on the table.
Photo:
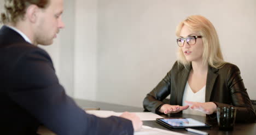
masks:
<svg viewBox="0 0 256 135"><path fill-rule="evenodd" d="M120 115L121 118L125 118L132 121L132 126L134 131L138 131L142 127L142 121L139 117L133 113L124 112Z"/></svg>

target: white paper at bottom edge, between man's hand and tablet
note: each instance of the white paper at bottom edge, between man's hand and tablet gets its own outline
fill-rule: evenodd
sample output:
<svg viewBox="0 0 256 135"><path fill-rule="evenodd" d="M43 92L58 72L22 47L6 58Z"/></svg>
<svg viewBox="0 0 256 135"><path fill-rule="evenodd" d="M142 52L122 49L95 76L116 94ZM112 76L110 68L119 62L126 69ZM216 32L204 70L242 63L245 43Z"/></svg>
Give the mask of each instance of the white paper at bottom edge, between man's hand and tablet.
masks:
<svg viewBox="0 0 256 135"><path fill-rule="evenodd" d="M142 126L141 130L134 132L134 135L184 135L174 131L162 130L160 128L153 128L149 126Z"/></svg>

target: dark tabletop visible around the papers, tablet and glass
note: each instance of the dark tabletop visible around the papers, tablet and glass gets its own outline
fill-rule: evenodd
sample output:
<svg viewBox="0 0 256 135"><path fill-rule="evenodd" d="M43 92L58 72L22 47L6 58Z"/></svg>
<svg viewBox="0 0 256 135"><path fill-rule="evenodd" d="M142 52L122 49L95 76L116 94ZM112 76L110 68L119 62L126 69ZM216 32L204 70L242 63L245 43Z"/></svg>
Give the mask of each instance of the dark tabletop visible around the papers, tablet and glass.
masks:
<svg viewBox="0 0 256 135"><path fill-rule="evenodd" d="M75 102L79 105L81 108L100 108L100 110L112 110L115 112L124 112L124 111L130 111L130 112L143 112L143 108L139 107L131 107L127 105L118 105L118 104L112 104L112 103L104 103L104 102L96 102L96 101L88 101L83 99L75 99ZM217 120L214 119L208 119L205 116L197 116L197 115L190 115L190 114L171 114L171 115L161 115L164 118L193 118L195 120L205 122L207 124L212 125L210 129L203 129L201 131L208 132L209 134L256 134L256 123L236 123L234 126L234 130L232 131L221 131L218 129ZM165 128L164 126L159 125L156 123L156 121L143 121L143 125L155 127L155 128L161 128L164 130L168 130L168 128ZM194 134L185 130L178 130L175 132L181 132L185 134ZM45 127L40 127L38 133L40 134L54 134L48 131Z"/></svg>

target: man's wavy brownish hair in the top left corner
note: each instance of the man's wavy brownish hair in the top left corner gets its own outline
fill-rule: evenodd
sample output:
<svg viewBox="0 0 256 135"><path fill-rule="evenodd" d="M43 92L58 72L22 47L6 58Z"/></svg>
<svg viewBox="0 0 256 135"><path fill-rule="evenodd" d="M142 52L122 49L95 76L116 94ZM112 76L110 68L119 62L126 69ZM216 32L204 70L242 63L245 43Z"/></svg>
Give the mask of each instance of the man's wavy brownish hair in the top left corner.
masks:
<svg viewBox="0 0 256 135"><path fill-rule="evenodd" d="M39 8L46 8L50 0L4 0L4 12L1 13L3 24L9 22L16 24L19 19L23 19L26 9L29 5L34 4Z"/></svg>

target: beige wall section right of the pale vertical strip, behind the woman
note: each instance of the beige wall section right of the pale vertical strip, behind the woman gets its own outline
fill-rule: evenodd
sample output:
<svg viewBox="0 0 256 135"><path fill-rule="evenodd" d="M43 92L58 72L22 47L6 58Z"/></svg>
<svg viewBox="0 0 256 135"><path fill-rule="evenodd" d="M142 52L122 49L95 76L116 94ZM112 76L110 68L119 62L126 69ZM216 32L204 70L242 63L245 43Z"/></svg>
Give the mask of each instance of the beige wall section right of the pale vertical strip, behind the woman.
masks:
<svg viewBox="0 0 256 135"><path fill-rule="evenodd" d="M255 0L99 0L97 100L142 107L176 61L178 22L193 14L212 21L225 61L240 67L256 99L255 9Z"/></svg>

